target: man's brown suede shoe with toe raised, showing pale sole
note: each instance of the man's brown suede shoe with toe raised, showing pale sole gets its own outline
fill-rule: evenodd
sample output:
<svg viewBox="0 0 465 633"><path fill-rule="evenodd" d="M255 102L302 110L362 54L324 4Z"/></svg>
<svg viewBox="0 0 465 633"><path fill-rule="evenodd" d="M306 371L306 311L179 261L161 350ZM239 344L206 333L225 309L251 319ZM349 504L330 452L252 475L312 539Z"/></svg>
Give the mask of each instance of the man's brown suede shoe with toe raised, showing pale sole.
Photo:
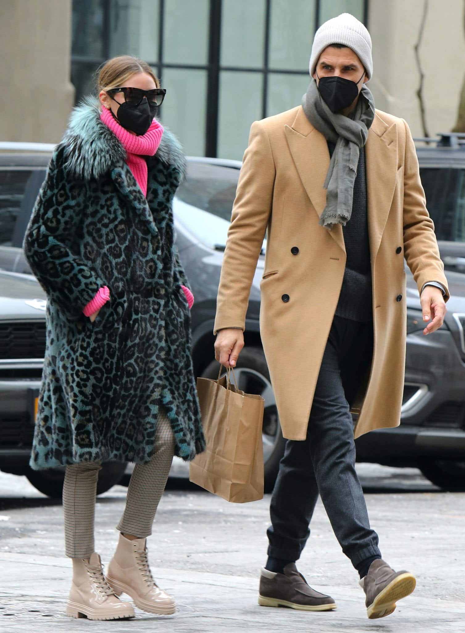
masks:
<svg viewBox="0 0 465 633"><path fill-rule="evenodd" d="M412 573L395 572L382 558L377 558L366 576L359 580L359 585L366 595L366 615L374 620L390 615L396 609L397 600L414 590L416 580Z"/></svg>

